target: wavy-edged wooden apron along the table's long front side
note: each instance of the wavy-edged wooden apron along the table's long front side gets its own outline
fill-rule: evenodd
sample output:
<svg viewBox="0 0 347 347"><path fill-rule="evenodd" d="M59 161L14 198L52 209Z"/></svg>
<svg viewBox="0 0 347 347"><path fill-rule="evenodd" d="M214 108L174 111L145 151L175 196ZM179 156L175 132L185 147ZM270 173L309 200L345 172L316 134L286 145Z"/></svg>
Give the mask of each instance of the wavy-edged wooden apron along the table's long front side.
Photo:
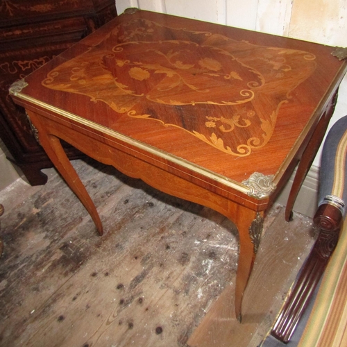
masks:
<svg viewBox="0 0 347 347"><path fill-rule="evenodd" d="M37 115L37 113L36 113ZM109 164L123 174L140 178L147 184L167 194L184 198L201 205L207 205L213 210L228 214L230 203L236 203L256 212L266 210L269 199L255 199L236 189L208 180L185 167L179 167L162 158L156 158L152 153L146 153L119 139L108 137L99 131L74 124L61 117L44 117L39 115L40 124L49 135L68 142L91 158ZM33 121L35 126L35 121ZM221 201L225 200L221 204ZM217 201L219 201L217 203ZM226 205L221 208L220 205Z"/></svg>

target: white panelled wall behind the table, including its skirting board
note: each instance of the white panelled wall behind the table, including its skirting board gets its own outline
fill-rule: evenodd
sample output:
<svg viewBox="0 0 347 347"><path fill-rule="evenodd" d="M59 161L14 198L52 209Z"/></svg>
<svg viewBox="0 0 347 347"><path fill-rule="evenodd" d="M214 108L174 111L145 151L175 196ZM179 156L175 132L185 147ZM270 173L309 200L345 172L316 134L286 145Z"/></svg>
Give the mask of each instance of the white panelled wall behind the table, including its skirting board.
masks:
<svg viewBox="0 0 347 347"><path fill-rule="evenodd" d="M330 46L347 47L347 0L116 0L116 6L118 14L126 8L137 7ZM347 75L339 88L339 98L330 127L344 115L347 115ZM294 206L294 210L311 217L316 211L320 161L321 149ZM291 183L292 178L278 202L286 203Z"/></svg>

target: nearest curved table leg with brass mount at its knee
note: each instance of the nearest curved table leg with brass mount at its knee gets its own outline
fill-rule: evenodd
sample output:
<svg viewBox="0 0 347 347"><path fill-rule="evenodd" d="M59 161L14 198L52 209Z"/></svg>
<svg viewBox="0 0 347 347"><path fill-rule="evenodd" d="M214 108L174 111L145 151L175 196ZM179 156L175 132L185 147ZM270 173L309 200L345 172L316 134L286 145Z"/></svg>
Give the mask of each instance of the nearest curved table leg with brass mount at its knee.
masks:
<svg viewBox="0 0 347 347"><path fill-rule="evenodd" d="M242 320L242 298L246 289L262 235L263 212L255 212L239 207L236 219L239 230L239 263L235 288L235 314Z"/></svg>

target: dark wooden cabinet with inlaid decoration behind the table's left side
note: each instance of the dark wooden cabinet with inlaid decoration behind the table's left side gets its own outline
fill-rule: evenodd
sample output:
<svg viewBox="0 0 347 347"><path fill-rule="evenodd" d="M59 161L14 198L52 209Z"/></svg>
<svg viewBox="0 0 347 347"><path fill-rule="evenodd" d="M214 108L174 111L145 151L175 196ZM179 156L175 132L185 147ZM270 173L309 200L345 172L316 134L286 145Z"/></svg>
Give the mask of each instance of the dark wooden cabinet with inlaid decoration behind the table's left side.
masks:
<svg viewBox="0 0 347 347"><path fill-rule="evenodd" d="M115 0L0 2L0 137L7 158L31 185L46 183L41 170L53 164L8 88L115 16ZM65 151L70 159L82 156L71 146Z"/></svg>

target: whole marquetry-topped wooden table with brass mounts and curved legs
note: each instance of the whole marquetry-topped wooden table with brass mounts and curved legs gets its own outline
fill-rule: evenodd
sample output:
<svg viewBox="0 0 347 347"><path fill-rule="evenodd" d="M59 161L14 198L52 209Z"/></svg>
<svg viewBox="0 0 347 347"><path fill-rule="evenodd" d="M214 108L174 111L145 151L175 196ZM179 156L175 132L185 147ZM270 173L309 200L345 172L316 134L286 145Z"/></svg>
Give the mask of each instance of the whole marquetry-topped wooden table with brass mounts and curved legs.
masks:
<svg viewBox="0 0 347 347"><path fill-rule="evenodd" d="M320 44L129 9L12 85L33 131L99 230L60 139L208 206L239 230L235 312L262 221L300 161L287 219L346 62Z"/></svg>

